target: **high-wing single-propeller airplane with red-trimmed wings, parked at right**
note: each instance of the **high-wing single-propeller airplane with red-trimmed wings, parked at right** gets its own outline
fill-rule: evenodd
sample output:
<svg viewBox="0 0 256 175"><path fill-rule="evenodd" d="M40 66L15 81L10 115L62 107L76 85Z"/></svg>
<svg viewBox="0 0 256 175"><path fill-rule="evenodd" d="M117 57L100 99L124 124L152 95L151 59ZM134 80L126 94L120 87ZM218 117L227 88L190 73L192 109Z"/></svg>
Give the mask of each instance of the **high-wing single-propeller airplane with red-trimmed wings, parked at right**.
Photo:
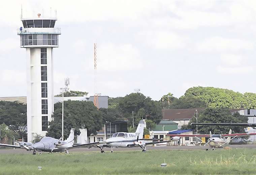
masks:
<svg viewBox="0 0 256 175"><path fill-rule="evenodd" d="M194 134L194 135L193 134L192 135L190 135L190 134L170 134L170 136L172 136L173 140L179 140L181 137L195 137L199 140L201 140L200 139L201 137L210 137L208 139L208 141L205 143L205 145L209 145L210 149L214 150L215 148L223 148L223 147L228 146L230 141L233 140L236 137L246 137L248 135L256 135L256 133L231 134L231 132L232 132L232 130L229 130L229 134L212 135L212 133L210 131L210 135L205 135L205 134ZM231 137L233 137L233 138L231 139ZM206 151L207 150L209 150L209 149L207 148Z"/></svg>

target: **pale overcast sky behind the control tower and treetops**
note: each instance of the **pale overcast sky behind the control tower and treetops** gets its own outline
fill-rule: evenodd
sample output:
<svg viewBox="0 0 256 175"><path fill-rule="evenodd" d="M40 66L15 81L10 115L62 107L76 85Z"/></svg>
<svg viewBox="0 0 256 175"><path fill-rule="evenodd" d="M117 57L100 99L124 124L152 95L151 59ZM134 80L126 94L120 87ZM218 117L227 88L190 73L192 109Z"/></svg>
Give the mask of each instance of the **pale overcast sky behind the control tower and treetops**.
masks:
<svg viewBox="0 0 256 175"><path fill-rule="evenodd" d="M198 85L256 93L256 1L9 0L0 6L0 97L27 93L21 5L27 16L57 9L55 94L65 77L94 94L94 42L102 95L140 89L159 100Z"/></svg>

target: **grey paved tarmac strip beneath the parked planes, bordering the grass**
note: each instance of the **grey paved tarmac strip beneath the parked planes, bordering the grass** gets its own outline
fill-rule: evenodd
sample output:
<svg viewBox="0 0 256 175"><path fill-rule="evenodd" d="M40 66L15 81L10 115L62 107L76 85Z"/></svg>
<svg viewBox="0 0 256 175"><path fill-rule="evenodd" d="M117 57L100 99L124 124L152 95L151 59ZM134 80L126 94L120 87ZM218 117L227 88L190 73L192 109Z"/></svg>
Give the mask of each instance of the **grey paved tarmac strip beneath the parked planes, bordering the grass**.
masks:
<svg viewBox="0 0 256 175"><path fill-rule="evenodd" d="M230 145L230 148L249 148L249 149L256 149L256 145ZM209 148L209 146L147 146L147 150L205 150ZM216 148L216 149L223 149L223 148ZM104 148L104 151L110 151L110 148ZM133 151L133 150L141 150L140 147L131 147L131 148L113 148L113 151ZM99 151L99 148L75 148L68 150L71 152L88 152L88 151ZM1 148L0 154L15 154L15 153L31 153L32 151L26 151L24 149L12 149L12 148Z"/></svg>

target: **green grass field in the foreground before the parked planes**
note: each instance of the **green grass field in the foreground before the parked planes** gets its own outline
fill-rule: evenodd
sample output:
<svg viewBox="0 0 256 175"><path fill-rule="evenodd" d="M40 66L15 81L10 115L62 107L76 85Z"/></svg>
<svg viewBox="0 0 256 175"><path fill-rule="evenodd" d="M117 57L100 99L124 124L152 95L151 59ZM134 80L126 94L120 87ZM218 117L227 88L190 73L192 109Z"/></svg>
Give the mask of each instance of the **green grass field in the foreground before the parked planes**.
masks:
<svg viewBox="0 0 256 175"><path fill-rule="evenodd" d="M167 167L160 167L161 163ZM37 167L42 170L38 171ZM0 154L0 174L256 174L256 149Z"/></svg>

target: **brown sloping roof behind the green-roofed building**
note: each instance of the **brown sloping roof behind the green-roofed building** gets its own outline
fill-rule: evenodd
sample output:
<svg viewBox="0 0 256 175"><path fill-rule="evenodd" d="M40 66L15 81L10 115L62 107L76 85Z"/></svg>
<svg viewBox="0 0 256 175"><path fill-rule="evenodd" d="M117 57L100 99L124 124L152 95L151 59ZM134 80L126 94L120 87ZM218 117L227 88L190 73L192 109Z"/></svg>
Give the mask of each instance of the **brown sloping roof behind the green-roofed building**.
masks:
<svg viewBox="0 0 256 175"><path fill-rule="evenodd" d="M204 110L204 108L191 108L191 109L166 109L162 111L162 116L164 120L174 120L174 119L191 119L196 113Z"/></svg>

